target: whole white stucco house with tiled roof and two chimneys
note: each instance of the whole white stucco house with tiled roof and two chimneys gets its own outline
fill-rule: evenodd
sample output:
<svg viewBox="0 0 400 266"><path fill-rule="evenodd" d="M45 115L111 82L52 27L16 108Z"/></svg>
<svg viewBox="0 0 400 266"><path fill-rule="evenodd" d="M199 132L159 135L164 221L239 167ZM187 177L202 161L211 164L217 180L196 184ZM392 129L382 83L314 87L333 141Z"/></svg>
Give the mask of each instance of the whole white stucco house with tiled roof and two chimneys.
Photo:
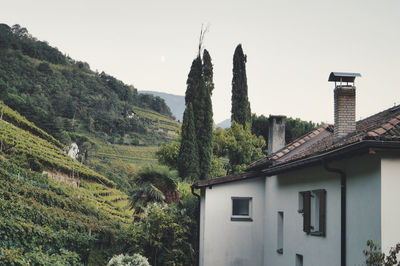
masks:
<svg viewBox="0 0 400 266"><path fill-rule="evenodd" d="M400 106L356 122L357 76L329 77L334 125L284 145L271 116L267 157L193 184L201 266L364 265L367 240L400 242Z"/></svg>

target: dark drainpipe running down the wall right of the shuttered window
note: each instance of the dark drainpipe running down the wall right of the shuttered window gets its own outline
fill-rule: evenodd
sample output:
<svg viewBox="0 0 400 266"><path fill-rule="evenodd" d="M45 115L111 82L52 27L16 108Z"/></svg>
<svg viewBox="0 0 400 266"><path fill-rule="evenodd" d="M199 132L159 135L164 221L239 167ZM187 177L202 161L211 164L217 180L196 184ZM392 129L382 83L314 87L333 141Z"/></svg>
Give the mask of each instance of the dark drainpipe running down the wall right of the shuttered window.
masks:
<svg viewBox="0 0 400 266"><path fill-rule="evenodd" d="M346 266L346 173L338 168L333 168L328 165L326 161L322 161L326 171L337 173L340 175L340 265Z"/></svg>

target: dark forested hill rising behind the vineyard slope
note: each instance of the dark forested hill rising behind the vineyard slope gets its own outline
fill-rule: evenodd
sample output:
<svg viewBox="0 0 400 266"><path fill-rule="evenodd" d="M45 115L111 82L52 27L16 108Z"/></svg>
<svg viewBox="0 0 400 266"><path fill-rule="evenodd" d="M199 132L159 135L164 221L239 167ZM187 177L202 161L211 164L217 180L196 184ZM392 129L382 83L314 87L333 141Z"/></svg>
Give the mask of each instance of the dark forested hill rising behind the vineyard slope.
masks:
<svg viewBox="0 0 400 266"><path fill-rule="evenodd" d="M19 25L0 24L0 100L64 144L69 132L157 144L179 127L160 97L90 70Z"/></svg>

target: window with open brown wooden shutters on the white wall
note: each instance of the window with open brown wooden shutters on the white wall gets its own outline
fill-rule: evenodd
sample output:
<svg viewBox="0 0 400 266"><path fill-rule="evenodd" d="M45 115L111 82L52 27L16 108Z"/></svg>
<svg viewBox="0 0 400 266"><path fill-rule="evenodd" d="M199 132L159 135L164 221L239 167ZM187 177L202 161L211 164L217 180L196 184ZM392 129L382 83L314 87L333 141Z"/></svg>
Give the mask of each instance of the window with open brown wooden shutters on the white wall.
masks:
<svg viewBox="0 0 400 266"><path fill-rule="evenodd" d="M303 231L314 236L325 236L326 190L299 193L299 213L303 214Z"/></svg>

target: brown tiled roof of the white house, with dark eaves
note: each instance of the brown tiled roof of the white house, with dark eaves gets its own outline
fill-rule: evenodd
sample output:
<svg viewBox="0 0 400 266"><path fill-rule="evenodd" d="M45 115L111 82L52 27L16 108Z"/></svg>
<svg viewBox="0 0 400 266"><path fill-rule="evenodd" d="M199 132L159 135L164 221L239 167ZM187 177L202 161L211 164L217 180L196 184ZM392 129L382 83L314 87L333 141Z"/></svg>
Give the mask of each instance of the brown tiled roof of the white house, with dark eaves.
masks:
<svg viewBox="0 0 400 266"><path fill-rule="evenodd" d="M312 159L321 160L337 154L349 153L356 148L368 147L400 147L400 105L360 120L356 132L334 142L333 125L323 125L320 128L289 143L277 152L250 164L246 173L232 176L202 180L194 187L206 187L215 184L254 178L273 174L285 166L298 166Z"/></svg>

